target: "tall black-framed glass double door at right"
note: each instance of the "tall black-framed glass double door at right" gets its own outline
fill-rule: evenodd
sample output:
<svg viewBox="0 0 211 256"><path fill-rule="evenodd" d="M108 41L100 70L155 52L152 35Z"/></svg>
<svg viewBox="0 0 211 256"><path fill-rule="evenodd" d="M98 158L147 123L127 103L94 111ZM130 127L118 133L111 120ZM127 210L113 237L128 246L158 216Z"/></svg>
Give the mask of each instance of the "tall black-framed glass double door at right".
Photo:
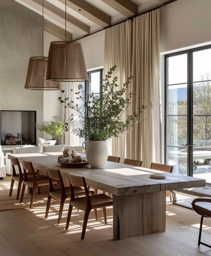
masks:
<svg viewBox="0 0 211 256"><path fill-rule="evenodd" d="M165 163L211 183L211 46L165 55Z"/></svg>

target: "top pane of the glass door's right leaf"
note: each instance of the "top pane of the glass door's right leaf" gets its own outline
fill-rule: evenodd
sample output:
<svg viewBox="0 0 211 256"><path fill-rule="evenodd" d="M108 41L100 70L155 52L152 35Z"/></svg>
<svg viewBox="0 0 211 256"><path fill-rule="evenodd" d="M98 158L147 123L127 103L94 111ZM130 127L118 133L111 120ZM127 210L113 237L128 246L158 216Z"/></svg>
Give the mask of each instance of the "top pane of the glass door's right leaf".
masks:
<svg viewBox="0 0 211 256"><path fill-rule="evenodd" d="M211 49L193 53L193 81L211 80Z"/></svg>

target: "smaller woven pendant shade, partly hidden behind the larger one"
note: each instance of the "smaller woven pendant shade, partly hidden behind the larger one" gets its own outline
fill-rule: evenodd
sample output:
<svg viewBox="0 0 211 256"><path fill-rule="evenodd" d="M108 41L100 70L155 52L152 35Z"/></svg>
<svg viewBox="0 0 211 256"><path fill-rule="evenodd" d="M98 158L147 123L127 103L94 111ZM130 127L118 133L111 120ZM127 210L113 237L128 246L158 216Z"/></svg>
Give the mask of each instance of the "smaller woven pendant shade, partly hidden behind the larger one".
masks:
<svg viewBox="0 0 211 256"><path fill-rule="evenodd" d="M48 57L31 57L28 63L25 89L60 90L59 82L46 80Z"/></svg>

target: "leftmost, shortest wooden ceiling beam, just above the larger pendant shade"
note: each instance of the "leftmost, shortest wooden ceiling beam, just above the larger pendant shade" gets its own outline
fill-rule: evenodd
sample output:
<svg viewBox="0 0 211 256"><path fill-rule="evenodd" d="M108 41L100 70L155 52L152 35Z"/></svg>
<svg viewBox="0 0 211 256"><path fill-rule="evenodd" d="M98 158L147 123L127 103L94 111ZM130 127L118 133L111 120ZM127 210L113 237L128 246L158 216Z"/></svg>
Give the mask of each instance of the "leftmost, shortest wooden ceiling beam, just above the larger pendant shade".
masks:
<svg viewBox="0 0 211 256"><path fill-rule="evenodd" d="M54 23L44 19L44 30L50 34L60 38L62 41L65 40L65 29L55 25ZM66 40L72 41L72 34L66 31Z"/></svg>

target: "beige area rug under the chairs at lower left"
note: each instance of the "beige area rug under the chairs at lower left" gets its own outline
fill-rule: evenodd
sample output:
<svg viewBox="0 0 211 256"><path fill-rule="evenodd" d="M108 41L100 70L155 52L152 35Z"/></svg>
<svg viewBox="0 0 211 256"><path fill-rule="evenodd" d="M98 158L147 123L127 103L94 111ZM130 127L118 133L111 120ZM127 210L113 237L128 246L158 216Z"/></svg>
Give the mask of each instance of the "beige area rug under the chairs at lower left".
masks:
<svg viewBox="0 0 211 256"><path fill-rule="evenodd" d="M11 197L9 196L11 179L12 179L12 176L6 176L4 177L3 180L0 180L0 210L12 210L12 209L20 209L20 208L29 209L31 194L28 193L28 189L25 190L23 203L20 203L20 199L16 200L18 182L14 182L12 196ZM47 199L48 199L47 192L42 192L41 194L36 193L34 203L33 203L33 208L46 206ZM51 205L54 207L58 206L58 209L59 209L59 201L52 199ZM67 206L68 205L69 204L67 203Z"/></svg>

